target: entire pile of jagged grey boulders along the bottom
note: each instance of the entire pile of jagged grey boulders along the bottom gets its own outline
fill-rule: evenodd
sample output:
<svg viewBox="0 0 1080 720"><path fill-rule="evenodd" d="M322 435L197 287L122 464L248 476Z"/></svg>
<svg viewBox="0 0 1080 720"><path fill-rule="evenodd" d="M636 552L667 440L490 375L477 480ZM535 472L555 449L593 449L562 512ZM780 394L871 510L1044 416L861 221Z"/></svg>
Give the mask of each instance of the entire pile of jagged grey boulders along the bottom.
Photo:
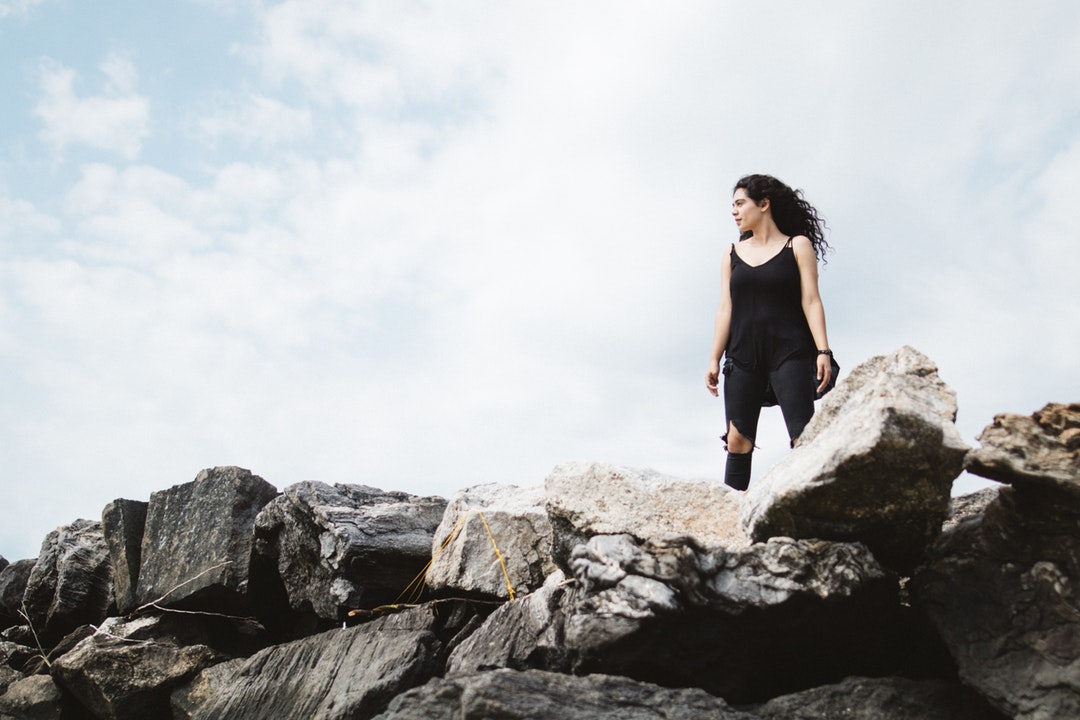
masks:
<svg viewBox="0 0 1080 720"><path fill-rule="evenodd" d="M0 720L1080 717L1077 406L996 419L964 462L1012 487L950 503L955 410L915 351L874 358L747 494L211 468L0 568Z"/></svg>

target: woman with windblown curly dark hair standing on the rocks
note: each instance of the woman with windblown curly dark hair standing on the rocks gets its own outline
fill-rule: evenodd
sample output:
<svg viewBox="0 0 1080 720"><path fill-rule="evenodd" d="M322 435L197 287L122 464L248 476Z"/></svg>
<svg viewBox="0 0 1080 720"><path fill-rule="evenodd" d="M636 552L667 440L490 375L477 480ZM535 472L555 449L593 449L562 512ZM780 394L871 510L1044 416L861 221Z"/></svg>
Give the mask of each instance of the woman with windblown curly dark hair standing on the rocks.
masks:
<svg viewBox="0 0 1080 720"><path fill-rule="evenodd" d="M794 445L813 415L815 393L833 379L818 294L818 260L829 246L824 221L801 191L768 175L747 175L735 184L731 215L740 242L724 254L705 382L708 392L719 394L726 354L724 481L745 490L766 389L775 394Z"/></svg>

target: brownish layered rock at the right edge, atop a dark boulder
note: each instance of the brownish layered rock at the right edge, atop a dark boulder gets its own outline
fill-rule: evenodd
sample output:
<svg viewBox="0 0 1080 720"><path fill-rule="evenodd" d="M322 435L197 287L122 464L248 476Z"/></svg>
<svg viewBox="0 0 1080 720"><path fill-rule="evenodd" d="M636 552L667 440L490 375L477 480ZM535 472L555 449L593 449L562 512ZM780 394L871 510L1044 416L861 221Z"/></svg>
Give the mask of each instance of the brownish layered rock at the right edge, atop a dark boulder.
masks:
<svg viewBox="0 0 1080 720"><path fill-rule="evenodd" d="M1031 417L999 415L968 453L968 472L1080 500L1080 403L1050 403Z"/></svg>

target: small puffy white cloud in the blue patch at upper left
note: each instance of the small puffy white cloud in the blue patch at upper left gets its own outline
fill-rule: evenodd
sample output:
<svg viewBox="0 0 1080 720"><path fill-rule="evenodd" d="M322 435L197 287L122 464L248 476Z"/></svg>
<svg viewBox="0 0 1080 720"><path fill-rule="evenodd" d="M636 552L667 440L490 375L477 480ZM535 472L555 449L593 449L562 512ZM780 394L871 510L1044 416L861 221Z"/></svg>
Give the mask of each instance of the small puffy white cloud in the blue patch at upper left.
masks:
<svg viewBox="0 0 1080 720"><path fill-rule="evenodd" d="M109 55L100 65L105 82L99 95L80 97L78 73L55 60L40 68L41 93L33 114L43 126L41 138L57 154L71 145L109 150L133 160L150 135L150 104L136 90L134 64Z"/></svg>

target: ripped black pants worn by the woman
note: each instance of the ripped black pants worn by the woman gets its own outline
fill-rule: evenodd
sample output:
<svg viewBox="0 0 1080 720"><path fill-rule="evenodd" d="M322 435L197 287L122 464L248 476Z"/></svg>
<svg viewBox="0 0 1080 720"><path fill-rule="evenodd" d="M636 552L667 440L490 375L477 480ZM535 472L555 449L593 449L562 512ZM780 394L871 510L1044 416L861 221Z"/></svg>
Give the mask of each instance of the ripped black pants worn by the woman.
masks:
<svg viewBox="0 0 1080 720"><path fill-rule="evenodd" d="M761 417L765 389L772 385L777 403L784 413L787 436L795 443L802 429L813 417L814 391L818 385L818 363L812 357L794 357L772 372L757 372L732 362L724 365L724 407L727 429L734 425L739 434L752 444L757 437L757 422ZM728 434L724 433L727 441ZM750 487L750 452L728 451L725 484L737 490Z"/></svg>

